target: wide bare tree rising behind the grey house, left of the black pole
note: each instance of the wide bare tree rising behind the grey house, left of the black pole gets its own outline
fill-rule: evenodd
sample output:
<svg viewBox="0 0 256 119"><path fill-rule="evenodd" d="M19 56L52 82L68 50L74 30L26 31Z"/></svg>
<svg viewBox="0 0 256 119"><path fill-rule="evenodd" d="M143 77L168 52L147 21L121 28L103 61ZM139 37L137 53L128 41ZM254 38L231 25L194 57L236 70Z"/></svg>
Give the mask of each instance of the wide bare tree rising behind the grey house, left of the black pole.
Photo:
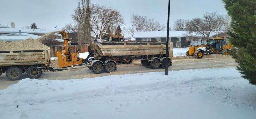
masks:
<svg viewBox="0 0 256 119"><path fill-rule="evenodd" d="M133 14L131 16L131 27L127 27L125 30L133 36L135 31L158 31L164 30L165 28L165 25L161 25L154 19L148 19L146 16Z"/></svg>

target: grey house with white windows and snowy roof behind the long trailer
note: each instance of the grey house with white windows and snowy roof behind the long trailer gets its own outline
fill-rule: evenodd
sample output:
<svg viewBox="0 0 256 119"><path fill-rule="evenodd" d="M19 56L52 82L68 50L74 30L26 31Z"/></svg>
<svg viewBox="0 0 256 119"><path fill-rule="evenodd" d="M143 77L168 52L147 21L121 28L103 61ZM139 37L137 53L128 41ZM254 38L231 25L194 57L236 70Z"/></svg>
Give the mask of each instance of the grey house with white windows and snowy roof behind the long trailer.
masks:
<svg viewBox="0 0 256 119"><path fill-rule="evenodd" d="M186 47L187 31L169 31L169 42L173 42L173 47ZM133 38L135 41L162 41L166 42L166 31L136 31Z"/></svg>

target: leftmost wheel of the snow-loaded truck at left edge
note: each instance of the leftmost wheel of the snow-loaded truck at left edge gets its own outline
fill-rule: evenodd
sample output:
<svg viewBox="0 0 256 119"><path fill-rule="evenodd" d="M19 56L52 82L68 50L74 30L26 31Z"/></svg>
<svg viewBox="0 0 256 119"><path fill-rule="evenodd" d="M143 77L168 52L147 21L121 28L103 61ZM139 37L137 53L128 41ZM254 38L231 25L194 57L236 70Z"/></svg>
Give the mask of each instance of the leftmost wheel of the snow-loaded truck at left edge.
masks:
<svg viewBox="0 0 256 119"><path fill-rule="evenodd" d="M23 71L19 67L11 67L6 71L6 77L10 80L20 80L23 76Z"/></svg>

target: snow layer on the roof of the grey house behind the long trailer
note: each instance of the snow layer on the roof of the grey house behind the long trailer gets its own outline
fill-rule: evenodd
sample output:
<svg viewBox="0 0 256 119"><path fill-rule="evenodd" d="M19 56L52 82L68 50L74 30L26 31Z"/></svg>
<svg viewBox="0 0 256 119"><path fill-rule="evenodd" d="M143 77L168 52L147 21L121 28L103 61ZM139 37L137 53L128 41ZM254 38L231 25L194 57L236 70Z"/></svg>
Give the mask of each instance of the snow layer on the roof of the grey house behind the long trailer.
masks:
<svg viewBox="0 0 256 119"><path fill-rule="evenodd" d="M133 37L166 37L166 31L135 31ZM169 37L184 37L187 31L169 31Z"/></svg>

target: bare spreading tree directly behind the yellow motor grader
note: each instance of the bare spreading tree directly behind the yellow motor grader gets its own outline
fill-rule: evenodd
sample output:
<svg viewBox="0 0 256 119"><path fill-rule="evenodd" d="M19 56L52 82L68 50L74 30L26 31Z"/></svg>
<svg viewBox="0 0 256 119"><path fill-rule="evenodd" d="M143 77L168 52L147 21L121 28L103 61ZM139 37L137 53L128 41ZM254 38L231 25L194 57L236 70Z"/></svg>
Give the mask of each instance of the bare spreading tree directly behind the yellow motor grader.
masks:
<svg viewBox="0 0 256 119"><path fill-rule="evenodd" d="M223 17L216 12L206 12L203 19L194 18L190 21L189 31L196 31L203 36L208 44L208 39L213 32L221 30L223 26Z"/></svg>

